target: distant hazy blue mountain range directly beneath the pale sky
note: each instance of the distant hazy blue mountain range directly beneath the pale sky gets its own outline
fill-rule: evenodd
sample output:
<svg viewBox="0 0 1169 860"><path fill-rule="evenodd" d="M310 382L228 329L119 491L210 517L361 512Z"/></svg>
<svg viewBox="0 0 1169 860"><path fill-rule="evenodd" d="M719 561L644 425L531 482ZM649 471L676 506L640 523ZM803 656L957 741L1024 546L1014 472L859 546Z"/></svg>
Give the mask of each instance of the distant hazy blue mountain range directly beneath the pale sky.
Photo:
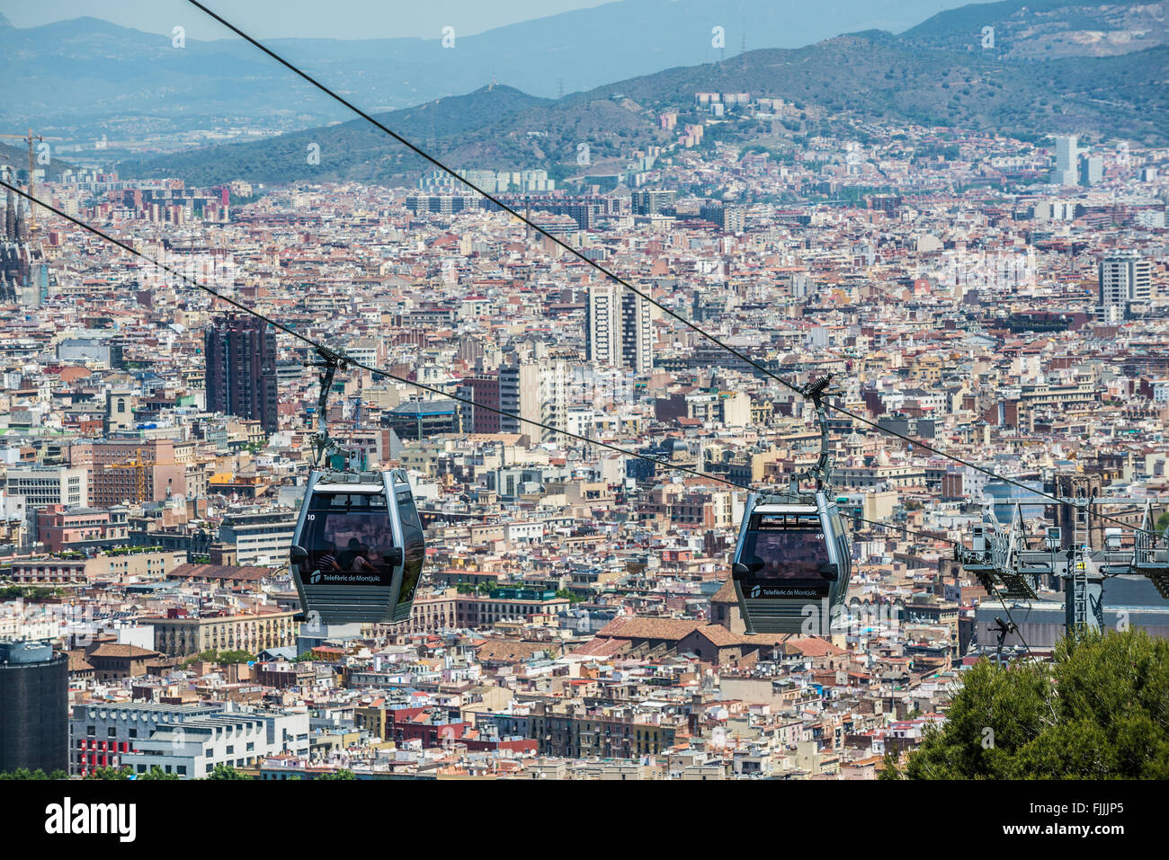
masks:
<svg viewBox="0 0 1169 860"><path fill-rule="evenodd" d="M461 36L454 49L434 39L264 40L296 65L327 77L373 110L399 110L465 93L492 79L551 98L663 68L721 60L749 43L800 47L855 26L908 27L953 0L833 0L836 14L798 0L622 0ZM82 21L82 26L77 25ZM714 47L714 28L721 44ZM895 28L895 27L894 27ZM97 32L99 30L99 32ZM242 40L172 48L170 35L84 19L0 29L0 74L9 82L0 117L46 126L79 126L79 137L115 137L108 117L146 116L165 127L227 116L265 130L291 127L291 110L309 123L346 118L337 105ZM247 82L247 86L241 86ZM42 93L54 92L53 106ZM226 93L226 95L224 95ZM132 120L122 127L132 130ZM112 133L111 133L112 132Z"/></svg>

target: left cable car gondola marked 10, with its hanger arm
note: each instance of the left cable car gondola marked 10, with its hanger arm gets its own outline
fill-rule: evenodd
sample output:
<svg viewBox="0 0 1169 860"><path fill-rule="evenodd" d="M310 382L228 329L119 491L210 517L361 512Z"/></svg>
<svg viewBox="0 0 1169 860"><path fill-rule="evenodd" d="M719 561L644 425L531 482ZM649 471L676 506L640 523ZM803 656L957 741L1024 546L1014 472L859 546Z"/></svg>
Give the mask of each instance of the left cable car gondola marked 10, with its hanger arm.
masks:
<svg viewBox="0 0 1169 860"><path fill-rule="evenodd" d="M328 437L326 400L344 358L323 351L317 460L292 534L290 569L306 617L321 624L407 620L422 577L426 543L401 470L367 471L364 457Z"/></svg>

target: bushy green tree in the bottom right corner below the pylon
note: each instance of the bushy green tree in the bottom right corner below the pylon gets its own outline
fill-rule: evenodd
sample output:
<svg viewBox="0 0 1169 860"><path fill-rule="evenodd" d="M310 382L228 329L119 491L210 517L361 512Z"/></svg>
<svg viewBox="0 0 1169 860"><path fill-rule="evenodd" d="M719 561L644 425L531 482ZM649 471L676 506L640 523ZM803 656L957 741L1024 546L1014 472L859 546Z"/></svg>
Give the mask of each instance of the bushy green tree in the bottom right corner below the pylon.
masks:
<svg viewBox="0 0 1169 860"><path fill-rule="evenodd" d="M886 779L1167 779L1169 641L1142 630L1065 638L1051 664L964 677L946 722Z"/></svg>

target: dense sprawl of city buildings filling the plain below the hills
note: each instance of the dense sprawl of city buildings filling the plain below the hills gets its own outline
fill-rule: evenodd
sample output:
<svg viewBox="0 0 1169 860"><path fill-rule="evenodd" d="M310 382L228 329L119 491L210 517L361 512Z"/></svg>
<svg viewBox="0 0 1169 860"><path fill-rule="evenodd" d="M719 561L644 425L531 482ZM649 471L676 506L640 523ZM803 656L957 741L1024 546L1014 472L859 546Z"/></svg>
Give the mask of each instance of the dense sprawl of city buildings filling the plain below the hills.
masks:
<svg viewBox="0 0 1169 860"><path fill-rule="evenodd" d="M1050 659L1066 578L999 599L955 550L1017 521L1053 557L1135 557L1164 527L1169 148L631 93L588 116L637 112L651 144L462 151L535 227L429 166L36 175L168 271L8 195L0 771L870 779L980 660ZM311 347L187 278L381 373L339 370L321 415ZM746 488L817 462L800 390L829 375L844 605L748 636ZM406 622L300 615L321 421L408 476ZM1169 636L1164 578L1101 591L1105 626Z"/></svg>

